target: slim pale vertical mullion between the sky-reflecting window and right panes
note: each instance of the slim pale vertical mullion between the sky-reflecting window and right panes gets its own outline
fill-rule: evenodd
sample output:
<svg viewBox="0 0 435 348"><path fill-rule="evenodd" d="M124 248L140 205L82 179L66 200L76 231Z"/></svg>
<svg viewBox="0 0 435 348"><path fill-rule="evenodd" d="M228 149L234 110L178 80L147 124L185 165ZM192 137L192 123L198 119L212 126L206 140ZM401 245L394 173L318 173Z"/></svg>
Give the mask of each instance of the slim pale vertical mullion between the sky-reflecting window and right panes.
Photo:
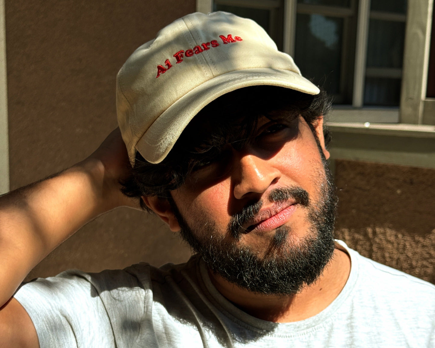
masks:
<svg viewBox="0 0 435 348"><path fill-rule="evenodd" d="M356 33L353 107L362 107L364 100L365 62L367 56L368 20L370 18L370 0L361 0L358 8Z"/></svg>

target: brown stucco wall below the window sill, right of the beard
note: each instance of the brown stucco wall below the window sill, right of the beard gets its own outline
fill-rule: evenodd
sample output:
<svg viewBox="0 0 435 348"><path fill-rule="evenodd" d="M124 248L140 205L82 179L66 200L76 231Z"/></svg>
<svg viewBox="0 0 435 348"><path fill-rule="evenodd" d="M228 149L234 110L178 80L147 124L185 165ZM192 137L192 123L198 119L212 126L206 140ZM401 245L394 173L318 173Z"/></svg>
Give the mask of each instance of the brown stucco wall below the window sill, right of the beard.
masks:
<svg viewBox="0 0 435 348"><path fill-rule="evenodd" d="M337 238L435 284L435 170L336 161Z"/></svg>

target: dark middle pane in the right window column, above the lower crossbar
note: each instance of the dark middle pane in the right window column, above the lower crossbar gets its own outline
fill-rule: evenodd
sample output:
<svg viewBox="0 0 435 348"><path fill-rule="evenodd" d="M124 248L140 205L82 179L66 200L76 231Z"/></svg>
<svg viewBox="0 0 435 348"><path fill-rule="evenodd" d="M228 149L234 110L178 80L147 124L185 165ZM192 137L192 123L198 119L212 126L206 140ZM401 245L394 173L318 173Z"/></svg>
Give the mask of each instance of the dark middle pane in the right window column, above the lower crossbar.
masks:
<svg viewBox="0 0 435 348"><path fill-rule="evenodd" d="M367 66L402 68L404 43L405 23L371 19Z"/></svg>

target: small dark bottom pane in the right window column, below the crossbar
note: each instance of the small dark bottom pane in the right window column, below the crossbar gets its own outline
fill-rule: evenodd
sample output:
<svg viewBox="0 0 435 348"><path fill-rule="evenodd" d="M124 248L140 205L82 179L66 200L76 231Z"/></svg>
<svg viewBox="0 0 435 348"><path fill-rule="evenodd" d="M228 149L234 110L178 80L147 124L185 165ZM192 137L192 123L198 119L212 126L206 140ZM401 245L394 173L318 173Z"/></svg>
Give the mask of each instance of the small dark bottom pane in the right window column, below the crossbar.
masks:
<svg viewBox="0 0 435 348"><path fill-rule="evenodd" d="M400 79L366 77L365 105L397 106L400 100Z"/></svg>

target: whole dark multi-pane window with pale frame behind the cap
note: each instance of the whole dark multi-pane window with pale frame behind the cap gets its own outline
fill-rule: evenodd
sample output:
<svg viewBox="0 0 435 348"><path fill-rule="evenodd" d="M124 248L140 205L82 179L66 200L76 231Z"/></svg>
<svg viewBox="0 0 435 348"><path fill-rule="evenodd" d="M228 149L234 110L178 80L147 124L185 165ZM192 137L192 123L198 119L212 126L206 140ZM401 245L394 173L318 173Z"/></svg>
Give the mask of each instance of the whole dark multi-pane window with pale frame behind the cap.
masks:
<svg viewBox="0 0 435 348"><path fill-rule="evenodd" d="M401 98L406 98L405 39L412 35L408 8L420 11L408 26L425 18L424 9L432 11L430 0L213 0L210 6L257 21L278 49L294 57L305 77L334 97L336 115L396 123ZM412 43L408 46L413 49ZM422 116L405 121L422 123Z"/></svg>

